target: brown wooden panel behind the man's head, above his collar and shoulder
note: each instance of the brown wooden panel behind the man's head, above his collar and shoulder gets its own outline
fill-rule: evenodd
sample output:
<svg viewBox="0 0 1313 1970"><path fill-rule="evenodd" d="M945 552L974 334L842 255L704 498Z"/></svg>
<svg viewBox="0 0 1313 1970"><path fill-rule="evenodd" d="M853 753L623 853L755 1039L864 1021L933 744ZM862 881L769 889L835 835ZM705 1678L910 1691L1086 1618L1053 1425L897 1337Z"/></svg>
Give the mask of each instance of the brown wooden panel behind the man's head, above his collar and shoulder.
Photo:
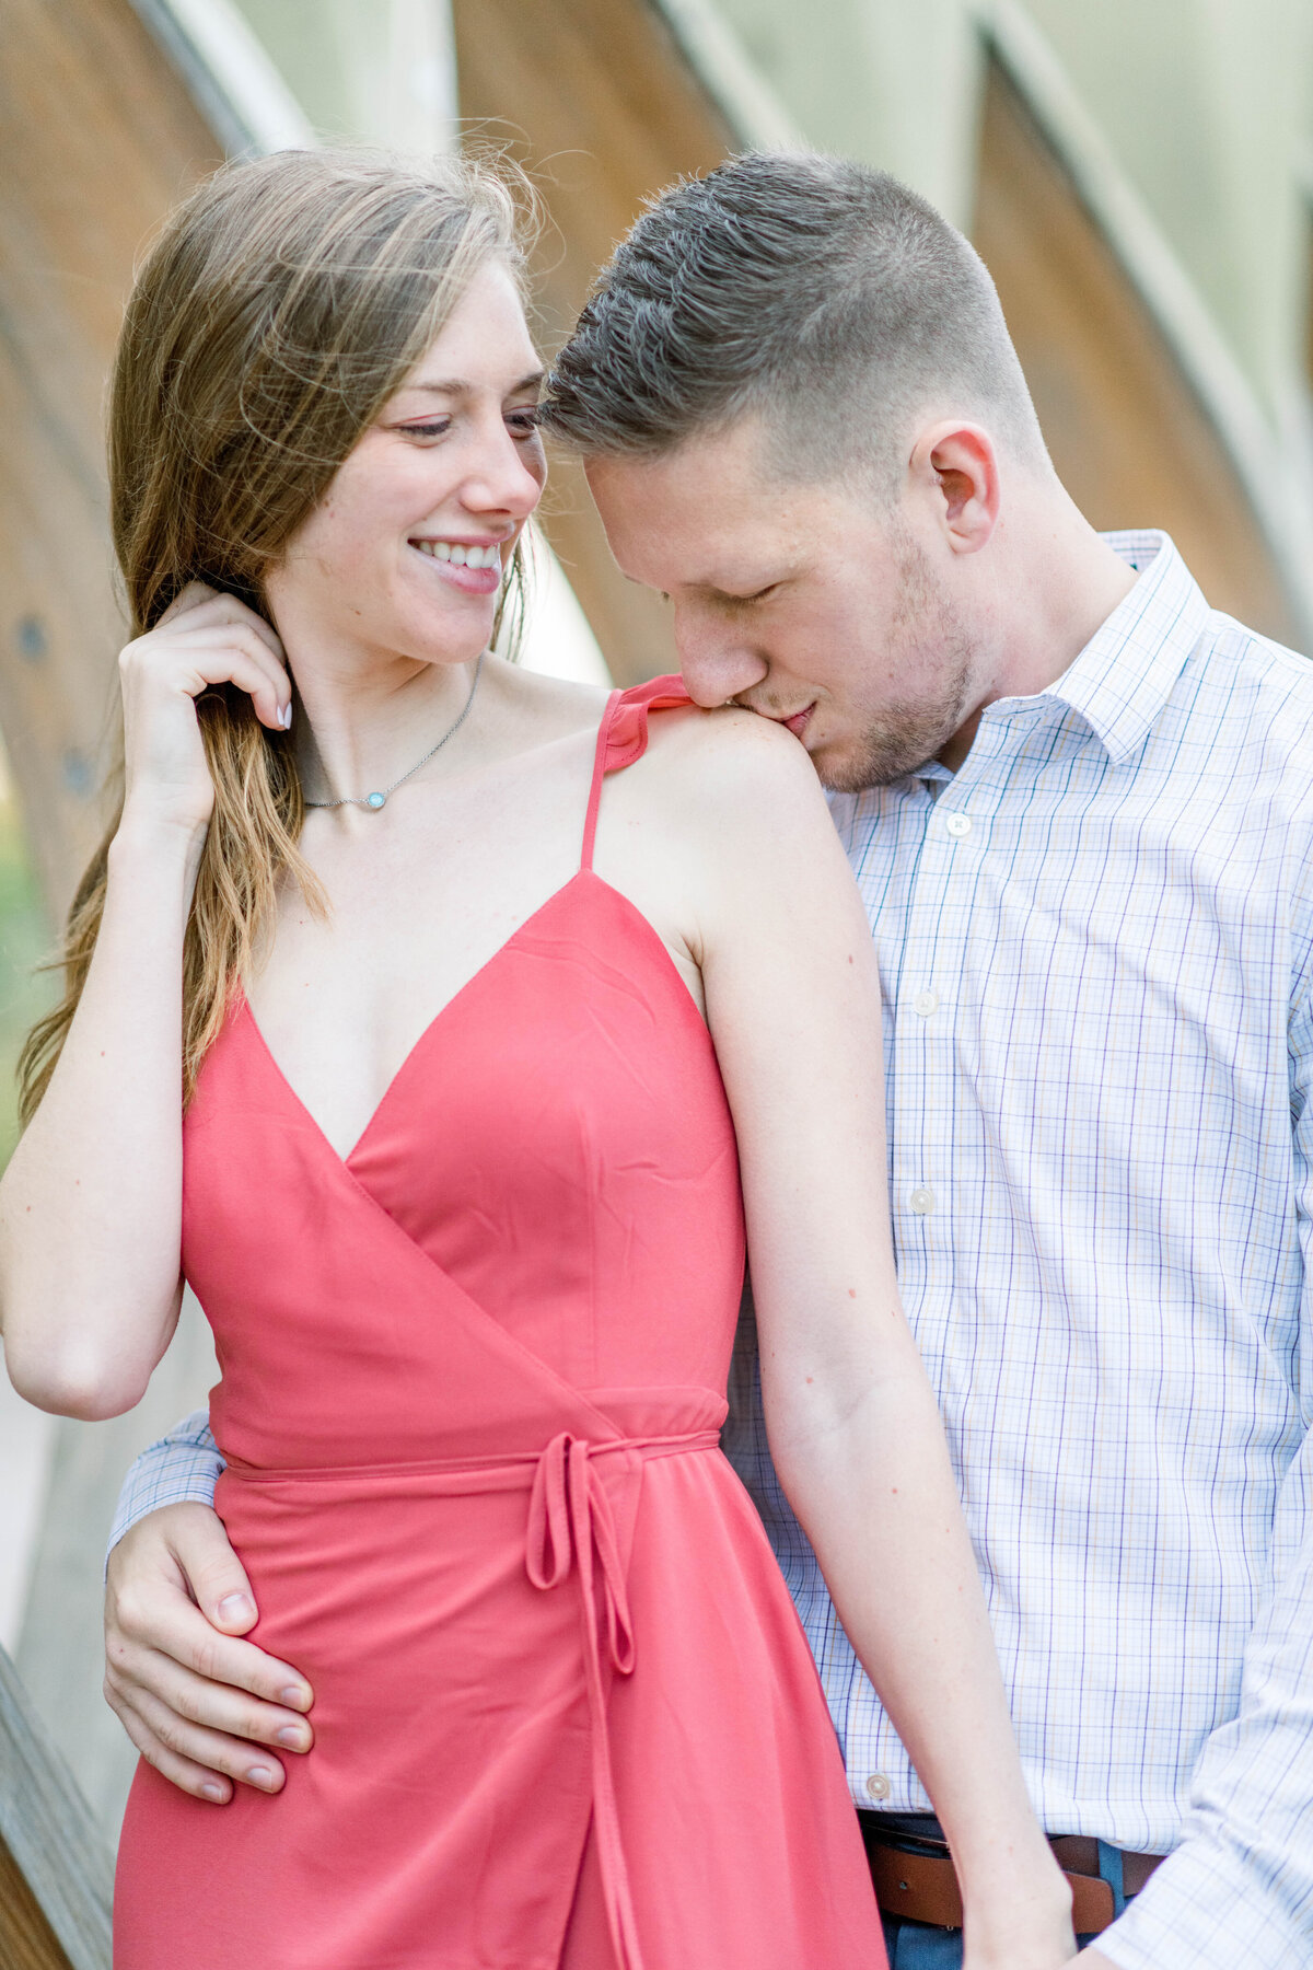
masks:
<svg viewBox="0 0 1313 1970"><path fill-rule="evenodd" d="M1165 528L1215 609L1299 646L1297 609L1207 412L998 63L972 236L1087 518Z"/></svg>

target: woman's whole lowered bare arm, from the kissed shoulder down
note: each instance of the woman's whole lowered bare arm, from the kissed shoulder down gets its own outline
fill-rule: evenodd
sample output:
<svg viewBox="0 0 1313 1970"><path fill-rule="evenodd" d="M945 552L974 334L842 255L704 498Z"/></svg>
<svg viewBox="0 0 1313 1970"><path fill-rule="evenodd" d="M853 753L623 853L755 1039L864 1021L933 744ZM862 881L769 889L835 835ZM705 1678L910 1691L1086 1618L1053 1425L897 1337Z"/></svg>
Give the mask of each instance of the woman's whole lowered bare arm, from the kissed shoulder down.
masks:
<svg viewBox="0 0 1313 1970"><path fill-rule="evenodd" d="M734 1113L772 1456L945 1826L969 1964L1073 1954L1033 1818L888 1210L880 981L805 753L717 717L687 747L707 1015ZM715 755L715 758L711 756ZM695 786L697 782L697 786Z"/></svg>

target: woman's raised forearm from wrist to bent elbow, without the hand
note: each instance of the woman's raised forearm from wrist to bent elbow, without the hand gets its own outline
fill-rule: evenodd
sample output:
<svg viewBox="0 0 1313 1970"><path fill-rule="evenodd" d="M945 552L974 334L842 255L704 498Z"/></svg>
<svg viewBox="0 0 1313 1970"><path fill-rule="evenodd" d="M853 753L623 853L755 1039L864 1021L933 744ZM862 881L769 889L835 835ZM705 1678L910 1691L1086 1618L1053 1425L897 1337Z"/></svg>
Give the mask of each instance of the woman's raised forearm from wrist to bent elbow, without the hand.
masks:
<svg viewBox="0 0 1313 1970"><path fill-rule="evenodd" d="M6 1365L63 1414L130 1409L177 1320L181 967L201 839L120 827L83 999L0 1182Z"/></svg>

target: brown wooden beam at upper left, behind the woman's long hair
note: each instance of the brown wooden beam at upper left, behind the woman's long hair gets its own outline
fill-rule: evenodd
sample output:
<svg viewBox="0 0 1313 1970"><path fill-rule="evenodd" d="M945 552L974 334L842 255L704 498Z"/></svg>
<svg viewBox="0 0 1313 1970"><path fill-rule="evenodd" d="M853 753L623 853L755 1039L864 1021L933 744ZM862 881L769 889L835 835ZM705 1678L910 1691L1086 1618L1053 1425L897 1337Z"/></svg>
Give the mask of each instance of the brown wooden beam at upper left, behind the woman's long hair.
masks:
<svg viewBox="0 0 1313 1970"><path fill-rule="evenodd" d="M6 0L0 73L0 727L57 918L122 642L104 380L144 242L222 154L128 0Z"/></svg>

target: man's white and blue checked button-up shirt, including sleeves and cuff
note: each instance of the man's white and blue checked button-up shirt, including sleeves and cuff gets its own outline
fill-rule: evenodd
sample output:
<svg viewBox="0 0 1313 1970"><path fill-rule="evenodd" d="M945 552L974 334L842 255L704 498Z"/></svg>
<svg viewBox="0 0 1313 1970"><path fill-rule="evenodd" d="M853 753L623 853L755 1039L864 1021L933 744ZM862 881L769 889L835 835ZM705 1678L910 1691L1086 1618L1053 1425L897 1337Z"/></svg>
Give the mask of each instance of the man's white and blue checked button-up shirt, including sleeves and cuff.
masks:
<svg viewBox="0 0 1313 1970"><path fill-rule="evenodd" d="M1313 666L1161 534L1065 676L957 774L833 800L880 953L904 1302L1049 1832L1175 1850L1124 1970L1313 1962ZM766 1450L726 1450L858 1805L929 1801ZM207 1499L205 1416L122 1519ZM730 1775L726 1775L726 1785Z"/></svg>

